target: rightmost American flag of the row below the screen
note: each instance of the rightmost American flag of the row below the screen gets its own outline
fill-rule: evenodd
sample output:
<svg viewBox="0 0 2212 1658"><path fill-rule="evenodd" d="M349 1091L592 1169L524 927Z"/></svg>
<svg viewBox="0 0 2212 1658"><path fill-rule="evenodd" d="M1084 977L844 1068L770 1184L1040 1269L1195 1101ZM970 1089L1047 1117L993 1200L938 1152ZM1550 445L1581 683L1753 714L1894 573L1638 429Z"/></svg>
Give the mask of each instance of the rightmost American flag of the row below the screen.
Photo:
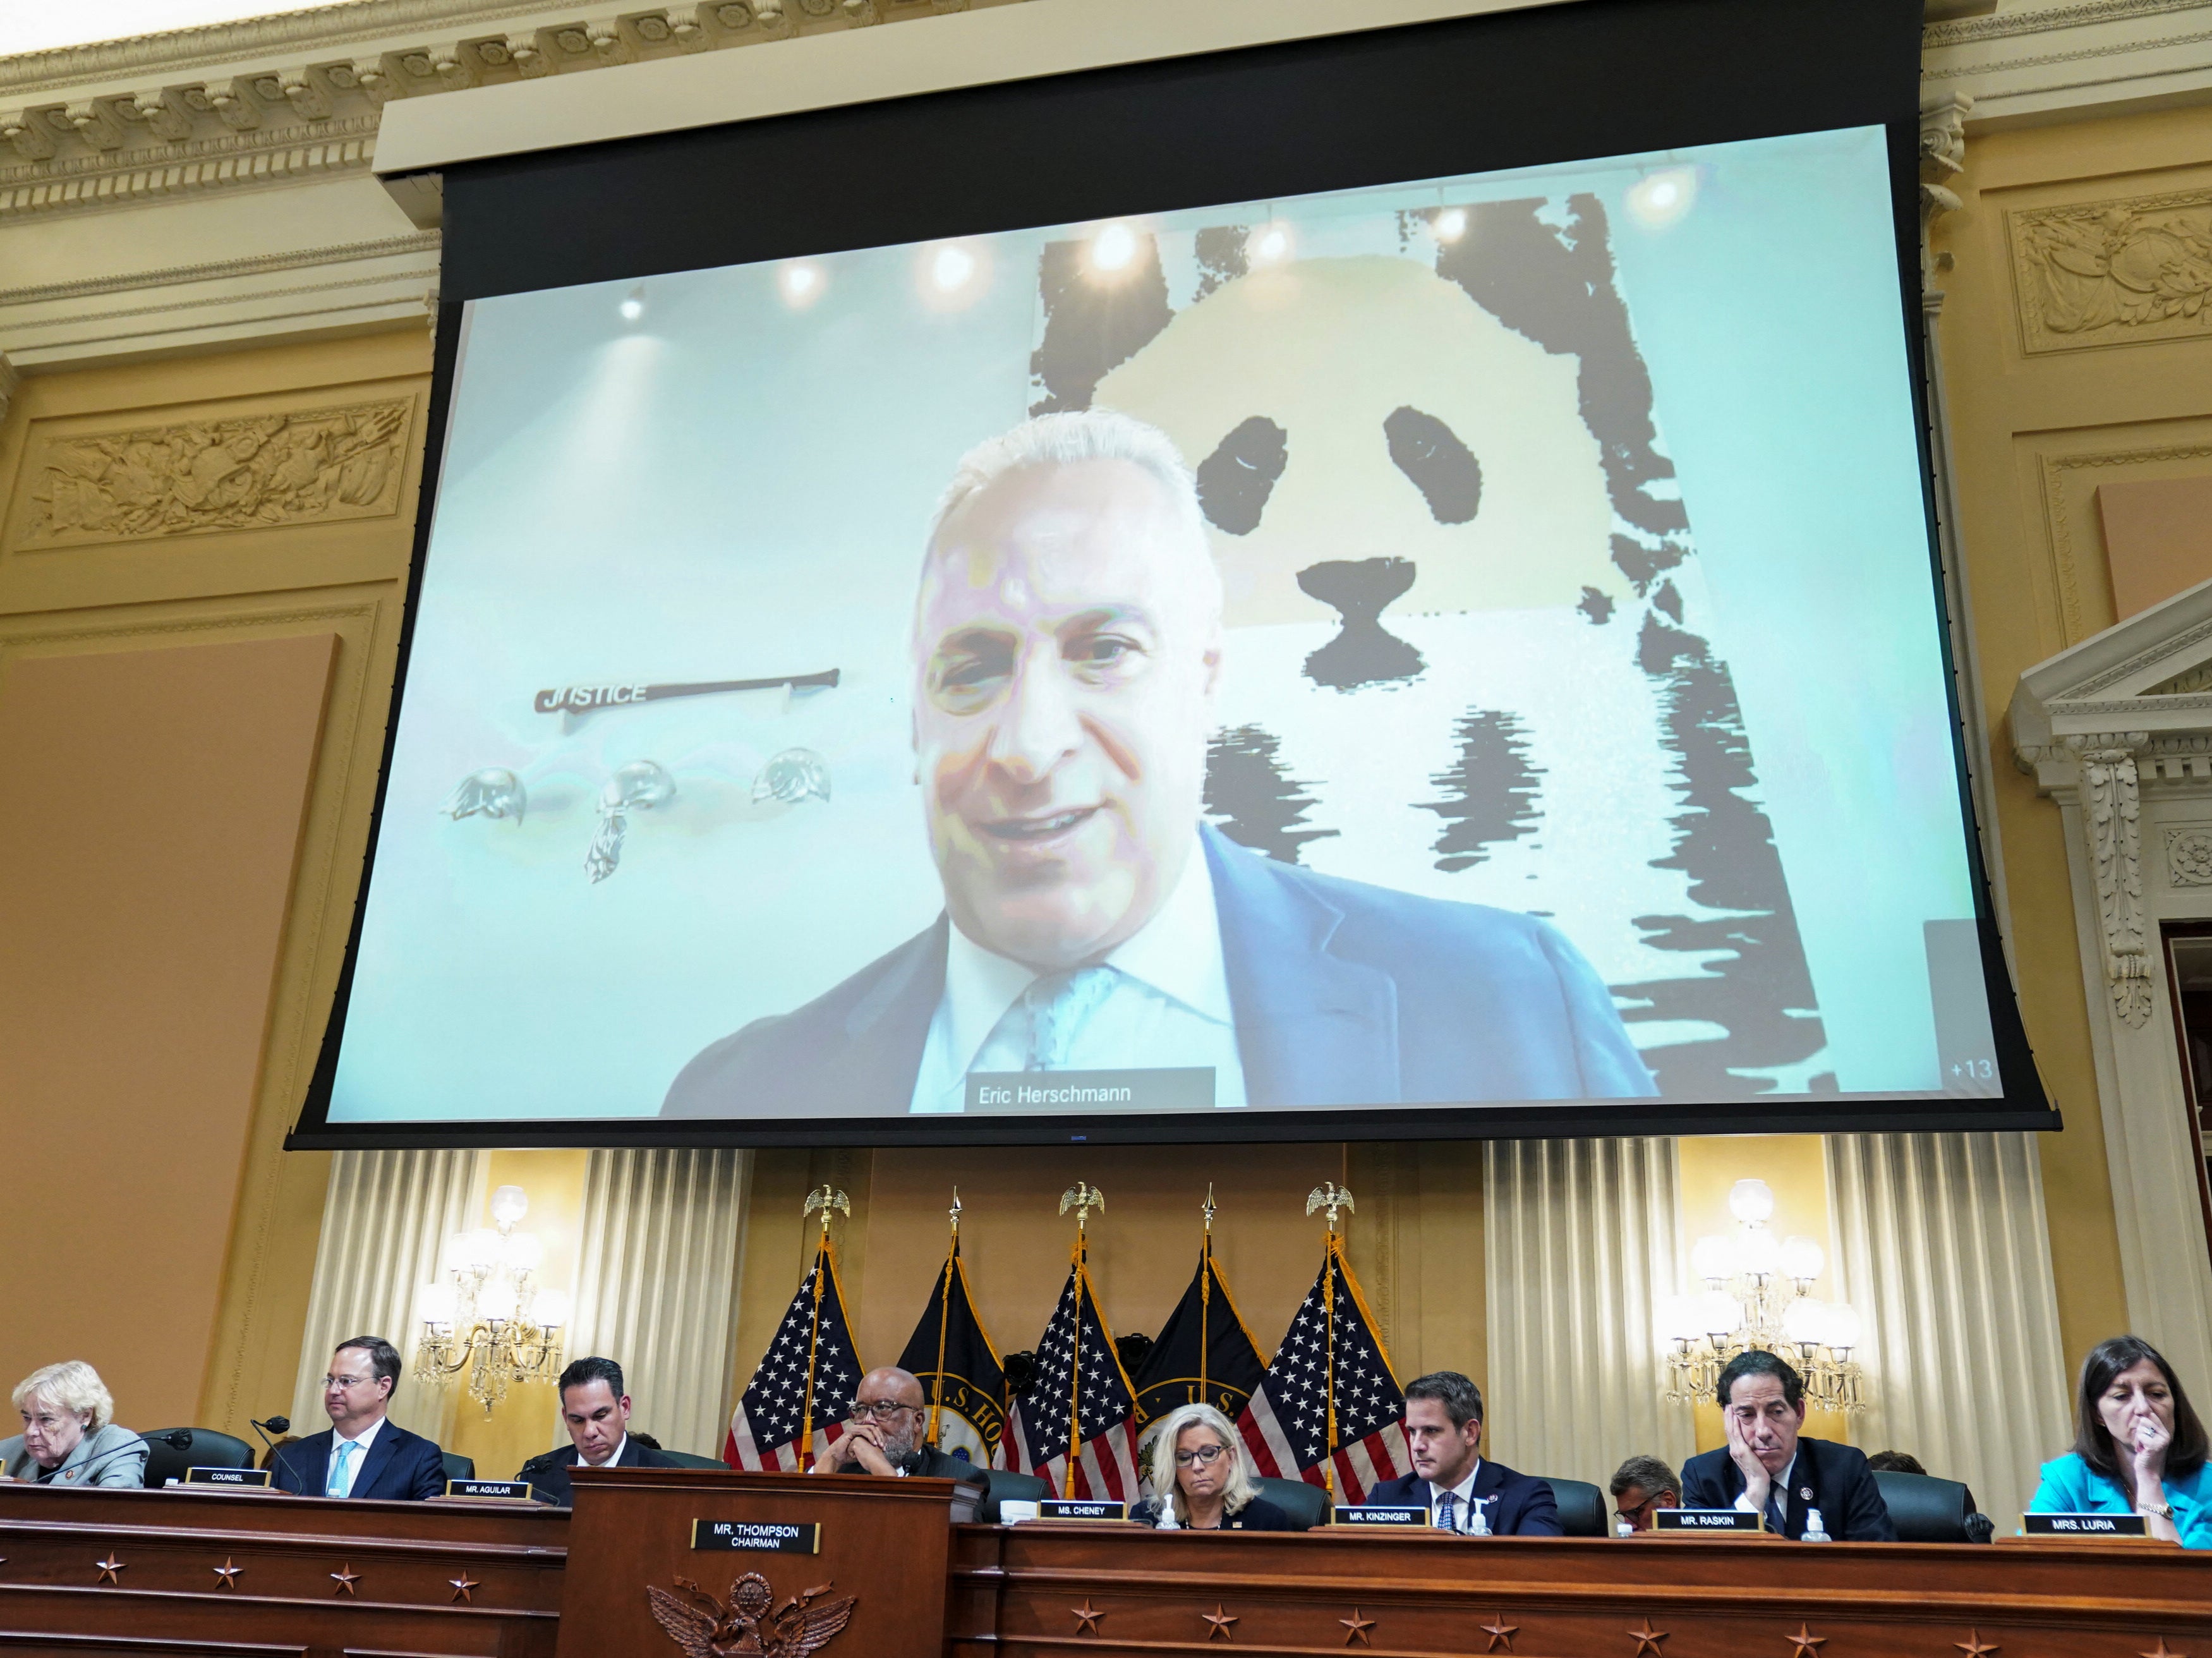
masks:
<svg viewBox="0 0 2212 1658"><path fill-rule="evenodd" d="M1334 1331L1329 1329L1334 1322ZM1329 1439L1329 1353L1336 1353L1336 1437ZM1329 1258L1290 1320L1267 1377L1237 1419L1252 1461L1274 1479L1323 1483L1336 1472L1336 1501L1363 1503L1385 1479L1413 1472L1405 1450L1405 1393L1389 1368L1374 1313L1343 1247Z"/></svg>

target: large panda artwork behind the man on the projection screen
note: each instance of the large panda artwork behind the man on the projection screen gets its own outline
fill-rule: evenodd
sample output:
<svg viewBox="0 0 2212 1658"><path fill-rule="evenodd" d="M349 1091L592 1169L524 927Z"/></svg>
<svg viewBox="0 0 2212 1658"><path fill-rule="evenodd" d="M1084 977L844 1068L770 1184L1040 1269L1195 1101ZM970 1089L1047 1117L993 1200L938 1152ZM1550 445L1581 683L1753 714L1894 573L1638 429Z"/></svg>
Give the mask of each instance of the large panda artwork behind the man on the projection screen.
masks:
<svg viewBox="0 0 2212 1658"><path fill-rule="evenodd" d="M1053 241L1031 413L1197 473L1225 836L1551 920L1668 1096L1834 1090L1608 237L1566 195Z"/></svg>

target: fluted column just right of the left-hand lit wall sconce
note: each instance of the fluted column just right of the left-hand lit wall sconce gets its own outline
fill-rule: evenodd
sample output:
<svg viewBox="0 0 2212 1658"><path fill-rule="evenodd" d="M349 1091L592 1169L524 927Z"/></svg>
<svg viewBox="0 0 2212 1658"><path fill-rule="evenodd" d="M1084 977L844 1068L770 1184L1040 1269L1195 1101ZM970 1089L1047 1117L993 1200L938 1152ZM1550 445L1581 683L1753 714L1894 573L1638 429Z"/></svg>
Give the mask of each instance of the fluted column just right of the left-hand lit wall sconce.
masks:
<svg viewBox="0 0 2212 1658"><path fill-rule="evenodd" d="M739 1242L752 1154L593 1152L568 1357L624 1368L633 1421L668 1450L721 1455L737 1362Z"/></svg>

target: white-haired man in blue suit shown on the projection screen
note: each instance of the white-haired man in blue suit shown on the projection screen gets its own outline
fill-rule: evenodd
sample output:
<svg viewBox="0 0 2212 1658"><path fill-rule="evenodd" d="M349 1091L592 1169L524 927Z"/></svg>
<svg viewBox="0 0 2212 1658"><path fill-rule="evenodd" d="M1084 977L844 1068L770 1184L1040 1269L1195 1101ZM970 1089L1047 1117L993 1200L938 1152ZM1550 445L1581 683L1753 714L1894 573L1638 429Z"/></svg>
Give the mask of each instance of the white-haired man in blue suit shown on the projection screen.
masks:
<svg viewBox="0 0 2212 1658"><path fill-rule="evenodd" d="M971 1074L1144 1068L1210 1072L1194 1103L1219 1108L1655 1094L1555 928L1318 875L1203 822L1221 654L1221 573L1166 436L1082 411L971 451L914 606L945 913L712 1043L664 1114L1020 1110Z"/></svg>

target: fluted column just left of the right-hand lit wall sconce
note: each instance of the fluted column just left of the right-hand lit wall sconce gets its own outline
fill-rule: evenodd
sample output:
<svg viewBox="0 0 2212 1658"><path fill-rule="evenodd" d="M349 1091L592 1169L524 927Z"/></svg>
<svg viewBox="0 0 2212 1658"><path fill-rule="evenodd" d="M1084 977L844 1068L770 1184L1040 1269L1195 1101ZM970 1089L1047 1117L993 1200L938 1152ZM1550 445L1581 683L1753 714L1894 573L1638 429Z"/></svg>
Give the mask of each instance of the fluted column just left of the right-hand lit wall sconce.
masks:
<svg viewBox="0 0 2212 1658"><path fill-rule="evenodd" d="M1677 1468L1688 1406L1659 1395L1657 1298L1677 1282L1674 1141L1495 1141L1486 1156L1489 1455L1604 1486Z"/></svg>

